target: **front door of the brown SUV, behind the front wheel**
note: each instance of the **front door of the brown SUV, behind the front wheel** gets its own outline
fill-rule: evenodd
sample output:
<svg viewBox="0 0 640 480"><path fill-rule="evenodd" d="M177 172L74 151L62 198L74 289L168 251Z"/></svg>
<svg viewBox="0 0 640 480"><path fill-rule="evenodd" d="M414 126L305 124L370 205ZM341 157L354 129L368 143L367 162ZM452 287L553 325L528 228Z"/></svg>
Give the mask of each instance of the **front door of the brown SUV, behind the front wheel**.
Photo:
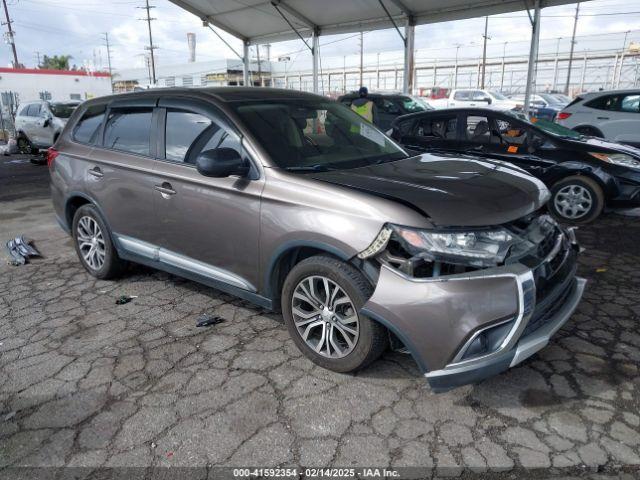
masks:
<svg viewBox="0 0 640 480"><path fill-rule="evenodd" d="M215 105L160 100L160 160L154 202L157 241L165 261L245 290L258 284L260 199L258 174L242 137ZM196 168L199 153L232 148L247 158L247 177L212 178ZM161 250L161 260L162 260Z"/></svg>

